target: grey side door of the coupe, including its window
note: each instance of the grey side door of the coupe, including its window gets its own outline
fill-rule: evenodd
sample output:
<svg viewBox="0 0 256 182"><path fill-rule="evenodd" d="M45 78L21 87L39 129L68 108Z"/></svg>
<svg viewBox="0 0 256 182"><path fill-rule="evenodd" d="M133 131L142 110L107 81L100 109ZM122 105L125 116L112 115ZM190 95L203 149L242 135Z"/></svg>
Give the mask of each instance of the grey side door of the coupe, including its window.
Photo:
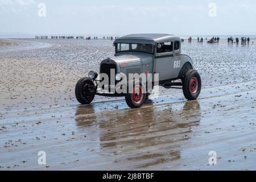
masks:
<svg viewBox="0 0 256 182"><path fill-rule="evenodd" d="M169 80L174 67L174 42L159 44L156 45L155 72L159 74L159 81Z"/></svg>

